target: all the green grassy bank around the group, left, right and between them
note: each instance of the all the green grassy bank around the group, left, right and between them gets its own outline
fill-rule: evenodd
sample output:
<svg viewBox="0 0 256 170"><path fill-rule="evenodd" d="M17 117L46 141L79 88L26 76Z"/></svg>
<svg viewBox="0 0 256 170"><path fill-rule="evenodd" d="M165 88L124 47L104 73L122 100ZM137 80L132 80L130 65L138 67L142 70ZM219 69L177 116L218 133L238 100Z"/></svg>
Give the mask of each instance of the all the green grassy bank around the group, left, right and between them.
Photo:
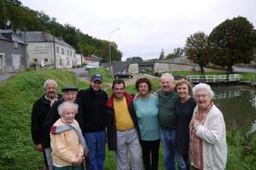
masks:
<svg viewBox="0 0 256 170"><path fill-rule="evenodd" d="M102 71L104 72L104 69ZM90 72L90 74L93 73ZM58 82L59 93L61 93L61 87L68 84L79 88L89 86L88 83L80 82L72 72L60 70L22 72L11 77L7 82L1 82L0 169L43 169L43 156L34 149L30 123L32 105L43 94L43 84L48 78L53 78ZM104 76L104 82L112 81L109 75ZM152 82L153 89L159 88L159 79L153 79ZM133 86L127 87L131 93L135 92ZM227 141L229 146L227 169L255 169L256 134L246 136L234 127L227 133ZM106 155L105 169L115 169L113 152L106 150ZM161 149L160 169L164 169Z"/></svg>

